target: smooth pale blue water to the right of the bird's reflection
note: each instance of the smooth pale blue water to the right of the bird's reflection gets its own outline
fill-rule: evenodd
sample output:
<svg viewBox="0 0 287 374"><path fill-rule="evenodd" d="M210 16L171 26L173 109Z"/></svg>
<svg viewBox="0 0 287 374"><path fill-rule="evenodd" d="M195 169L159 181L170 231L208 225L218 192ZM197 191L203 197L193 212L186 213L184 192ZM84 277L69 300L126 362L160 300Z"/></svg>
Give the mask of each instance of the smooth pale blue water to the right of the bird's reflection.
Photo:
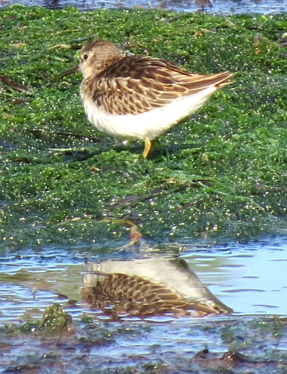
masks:
<svg viewBox="0 0 287 374"><path fill-rule="evenodd" d="M183 257L236 314L287 315L287 244L231 245Z"/></svg>

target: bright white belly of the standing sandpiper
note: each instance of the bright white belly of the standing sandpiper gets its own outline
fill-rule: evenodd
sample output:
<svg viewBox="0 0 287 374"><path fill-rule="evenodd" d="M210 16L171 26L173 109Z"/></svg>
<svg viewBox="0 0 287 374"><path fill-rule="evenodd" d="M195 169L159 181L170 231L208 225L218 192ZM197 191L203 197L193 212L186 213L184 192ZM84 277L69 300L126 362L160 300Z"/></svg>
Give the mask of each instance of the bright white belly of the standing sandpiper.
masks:
<svg viewBox="0 0 287 374"><path fill-rule="evenodd" d="M180 120L193 114L206 99L216 91L211 86L194 95L177 99L163 108L156 108L140 114L111 114L99 107L93 100L83 100L88 120L99 131L113 136L153 140Z"/></svg>

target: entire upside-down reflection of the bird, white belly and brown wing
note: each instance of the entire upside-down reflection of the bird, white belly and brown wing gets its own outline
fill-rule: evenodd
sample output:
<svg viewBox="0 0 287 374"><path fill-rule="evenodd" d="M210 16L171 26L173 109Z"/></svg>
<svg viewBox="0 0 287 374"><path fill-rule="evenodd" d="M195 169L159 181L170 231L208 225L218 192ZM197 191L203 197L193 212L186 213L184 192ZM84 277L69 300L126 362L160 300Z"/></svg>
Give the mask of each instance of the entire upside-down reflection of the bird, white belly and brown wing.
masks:
<svg viewBox="0 0 287 374"><path fill-rule="evenodd" d="M193 310L192 315L202 316L232 311L180 262L150 258L92 264L91 272L84 274L82 298L91 307L115 315L191 314Z"/></svg>

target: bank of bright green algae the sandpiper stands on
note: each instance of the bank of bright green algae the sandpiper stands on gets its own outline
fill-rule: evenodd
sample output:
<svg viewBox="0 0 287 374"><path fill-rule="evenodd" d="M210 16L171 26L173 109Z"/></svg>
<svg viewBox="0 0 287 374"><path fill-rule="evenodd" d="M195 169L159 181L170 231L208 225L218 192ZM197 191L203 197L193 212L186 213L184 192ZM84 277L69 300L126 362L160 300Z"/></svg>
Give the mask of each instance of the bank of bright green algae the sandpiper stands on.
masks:
<svg viewBox="0 0 287 374"><path fill-rule="evenodd" d="M29 88L0 86L1 246L128 242L116 220L156 242L285 232L286 14L15 5L0 19L2 74ZM140 142L87 122L80 74L58 76L91 36L197 73L230 70L235 82L144 160Z"/></svg>

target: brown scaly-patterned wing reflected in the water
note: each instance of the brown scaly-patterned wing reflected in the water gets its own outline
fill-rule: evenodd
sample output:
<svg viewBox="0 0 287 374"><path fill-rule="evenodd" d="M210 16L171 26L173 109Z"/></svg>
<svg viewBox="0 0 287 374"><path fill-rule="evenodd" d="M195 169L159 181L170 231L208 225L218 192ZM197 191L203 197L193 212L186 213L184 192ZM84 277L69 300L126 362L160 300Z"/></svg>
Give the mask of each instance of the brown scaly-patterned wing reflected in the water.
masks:
<svg viewBox="0 0 287 374"><path fill-rule="evenodd" d="M213 301L185 298L157 282L120 273L86 273L81 295L91 307L105 310L109 306L109 312L115 314L190 314L188 310L196 310L204 316L229 312Z"/></svg>

